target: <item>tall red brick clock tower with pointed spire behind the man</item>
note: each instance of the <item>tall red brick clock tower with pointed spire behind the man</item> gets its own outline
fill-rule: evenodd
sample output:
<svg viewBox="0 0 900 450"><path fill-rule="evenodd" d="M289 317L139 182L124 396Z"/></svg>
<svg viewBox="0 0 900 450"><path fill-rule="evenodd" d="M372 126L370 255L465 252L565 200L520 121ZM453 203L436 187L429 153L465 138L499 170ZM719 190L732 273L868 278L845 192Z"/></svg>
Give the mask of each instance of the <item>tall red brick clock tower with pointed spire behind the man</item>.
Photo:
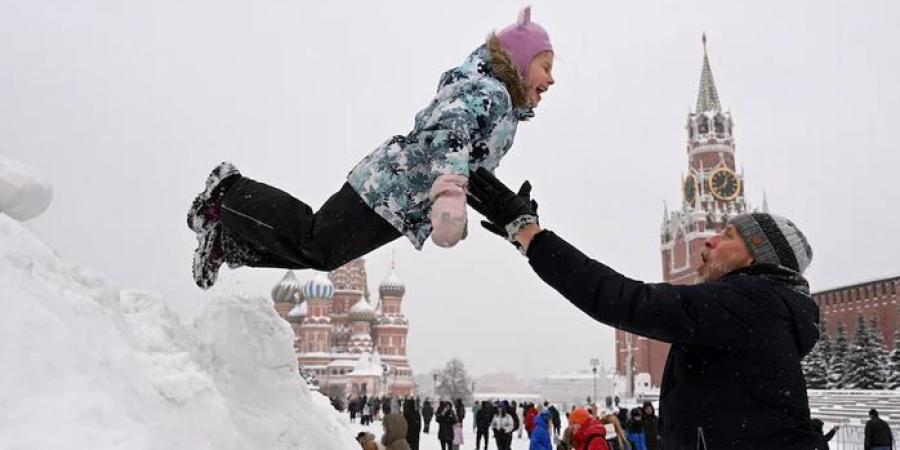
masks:
<svg viewBox="0 0 900 450"><path fill-rule="evenodd" d="M697 105L688 113L685 125L687 170L682 175L682 203L675 211L665 208L660 230L666 282L697 283L704 240L721 231L728 217L747 211L743 174L735 166L733 127L731 113L719 102L704 35ZM668 344L616 331L619 374L626 375L631 366L635 373L650 373L651 383L659 386L668 353Z"/></svg>

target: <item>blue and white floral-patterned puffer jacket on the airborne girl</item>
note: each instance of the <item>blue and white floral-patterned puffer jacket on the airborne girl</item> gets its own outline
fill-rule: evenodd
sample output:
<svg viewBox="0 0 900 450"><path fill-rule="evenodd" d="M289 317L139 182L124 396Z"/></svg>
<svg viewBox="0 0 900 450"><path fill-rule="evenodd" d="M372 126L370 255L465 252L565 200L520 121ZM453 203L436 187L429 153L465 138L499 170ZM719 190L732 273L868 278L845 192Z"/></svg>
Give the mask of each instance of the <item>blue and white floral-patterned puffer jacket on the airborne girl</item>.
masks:
<svg viewBox="0 0 900 450"><path fill-rule="evenodd" d="M416 115L414 129L363 158L348 183L417 250L441 223L454 230L441 232L440 239L436 232L435 243L455 244L466 226L469 172L478 167L493 172L512 146L518 122L534 115L524 92L499 40L489 37L461 66L441 76L437 95ZM432 217L436 203L442 213Z"/></svg>

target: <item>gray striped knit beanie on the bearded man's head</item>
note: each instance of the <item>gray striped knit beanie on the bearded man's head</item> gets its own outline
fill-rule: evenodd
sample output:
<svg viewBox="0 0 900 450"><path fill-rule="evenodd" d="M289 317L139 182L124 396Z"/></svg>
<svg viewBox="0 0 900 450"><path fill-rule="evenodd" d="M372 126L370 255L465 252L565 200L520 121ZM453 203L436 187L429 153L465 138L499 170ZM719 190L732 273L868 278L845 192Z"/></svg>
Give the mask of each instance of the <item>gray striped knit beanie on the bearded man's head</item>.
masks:
<svg viewBox="0 0 900 450"><path fill-rule="evenodd" d="M790 220L768 213L739 214L728 220L734 225L755 263L770 263L802 274L812 261L812 247Z"/></svg>

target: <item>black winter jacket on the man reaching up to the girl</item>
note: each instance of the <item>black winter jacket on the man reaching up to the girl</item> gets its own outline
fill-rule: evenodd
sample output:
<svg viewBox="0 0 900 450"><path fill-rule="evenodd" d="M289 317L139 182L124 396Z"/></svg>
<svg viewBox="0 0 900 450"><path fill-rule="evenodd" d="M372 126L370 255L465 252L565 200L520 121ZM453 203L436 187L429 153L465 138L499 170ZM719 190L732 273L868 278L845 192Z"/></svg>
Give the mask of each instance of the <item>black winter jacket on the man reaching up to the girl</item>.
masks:
<svg viewBox="0 0 900 450"><path fill-rule="evenodd" d="M715 282L646 284L546 230L527 256L541 279L594 319L672 344L660 389L661 448L815 447L800 359L818 340L819 310L796 273L751 265Z"/></svg>

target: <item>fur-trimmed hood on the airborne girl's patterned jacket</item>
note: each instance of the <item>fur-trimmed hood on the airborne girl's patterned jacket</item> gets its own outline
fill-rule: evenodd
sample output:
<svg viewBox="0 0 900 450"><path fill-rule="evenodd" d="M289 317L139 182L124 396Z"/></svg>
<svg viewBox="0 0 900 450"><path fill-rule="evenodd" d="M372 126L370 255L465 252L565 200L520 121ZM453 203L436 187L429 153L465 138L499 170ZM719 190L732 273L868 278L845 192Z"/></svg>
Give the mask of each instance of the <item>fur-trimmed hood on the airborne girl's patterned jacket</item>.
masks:
<svg viewBox="0 0 900 450"><path fill-rule="evenodd" d="M512 59L500 45L496 35L488 36L487 42L473 51L458 67L454 67L441 75L438 90L460 81L473 81L490 77L499 81L509 93L513 109L519 120L527 120L534 116L534 110L528 105L525 82Z"/></svg>

